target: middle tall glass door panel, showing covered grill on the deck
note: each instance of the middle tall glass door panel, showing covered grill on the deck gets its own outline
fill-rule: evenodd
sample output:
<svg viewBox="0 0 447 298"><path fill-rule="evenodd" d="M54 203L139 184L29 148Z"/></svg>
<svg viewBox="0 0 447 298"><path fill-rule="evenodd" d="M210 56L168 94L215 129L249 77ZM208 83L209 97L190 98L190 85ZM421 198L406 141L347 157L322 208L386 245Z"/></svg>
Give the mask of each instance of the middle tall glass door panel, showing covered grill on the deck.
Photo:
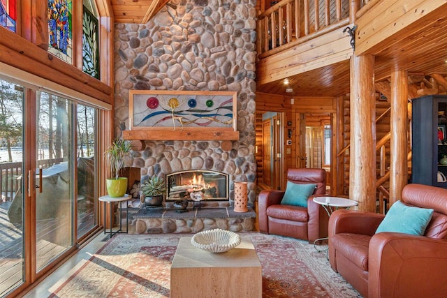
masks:
<svg viewBox="0 0 447 298"><path fill-rule="evenodd" d="M37 271L73 246L73 103L37 92Z"/></svg>

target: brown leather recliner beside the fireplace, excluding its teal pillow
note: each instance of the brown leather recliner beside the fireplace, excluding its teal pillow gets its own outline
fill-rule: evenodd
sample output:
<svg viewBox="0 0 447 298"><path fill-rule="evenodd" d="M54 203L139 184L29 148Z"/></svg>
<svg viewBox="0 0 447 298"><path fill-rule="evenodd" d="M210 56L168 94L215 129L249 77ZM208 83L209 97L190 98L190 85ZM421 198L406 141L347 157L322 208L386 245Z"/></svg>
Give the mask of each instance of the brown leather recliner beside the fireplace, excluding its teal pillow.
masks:
<svg viewBox="0 0 447 298"><path fill-rule="evenodd" d="M328 214L316 204L314 195L325 195L324 169L297 168L287 171L287 180L296 184L316 184L307 208L281 204L285 191L261 191L258 196L259 230L298 239L314 240L328 236Z"/></svg>

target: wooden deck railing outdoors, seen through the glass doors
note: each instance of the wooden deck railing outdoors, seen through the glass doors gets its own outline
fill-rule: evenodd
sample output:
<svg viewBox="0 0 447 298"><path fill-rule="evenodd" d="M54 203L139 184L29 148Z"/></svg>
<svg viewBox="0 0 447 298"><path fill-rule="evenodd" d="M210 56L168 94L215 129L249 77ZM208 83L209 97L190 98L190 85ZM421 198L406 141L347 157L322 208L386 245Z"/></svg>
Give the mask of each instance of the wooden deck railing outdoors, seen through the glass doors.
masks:
<svg viewBox="0 0 447 298"><path fill-rule="evenodd" d="M43 159L38 161L39 167L51 167L54 163L61 163L64 158ZM22 177L22 163L0 163L0 204L12 201L20 188Z"/></svg>

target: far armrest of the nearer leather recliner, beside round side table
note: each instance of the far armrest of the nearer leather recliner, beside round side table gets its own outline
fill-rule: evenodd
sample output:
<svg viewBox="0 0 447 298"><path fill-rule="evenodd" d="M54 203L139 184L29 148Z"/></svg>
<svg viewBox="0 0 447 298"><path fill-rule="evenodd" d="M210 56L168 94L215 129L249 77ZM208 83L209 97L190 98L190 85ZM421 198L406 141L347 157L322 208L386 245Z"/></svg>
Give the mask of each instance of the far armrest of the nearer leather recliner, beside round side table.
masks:
<svg viewBox="0 0 447 298"><path fill-rule="evenodd" d="M339 209L329 218L329 237L339 233L364 234L372 236L385 215L372 212Z"/></svg>

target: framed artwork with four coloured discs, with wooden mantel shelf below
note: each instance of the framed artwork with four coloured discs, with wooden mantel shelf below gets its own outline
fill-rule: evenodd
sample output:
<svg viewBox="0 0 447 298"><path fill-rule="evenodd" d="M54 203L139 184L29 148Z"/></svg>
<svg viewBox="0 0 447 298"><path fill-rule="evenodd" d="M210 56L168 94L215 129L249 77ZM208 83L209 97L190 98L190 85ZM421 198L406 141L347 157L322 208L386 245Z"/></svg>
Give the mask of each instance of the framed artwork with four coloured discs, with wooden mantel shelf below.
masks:
<svg viewBox="0 0 447 298"><path fill-rule="evenodd" d="M126 140L239 140L232 91L129 91Z"/></svg>

